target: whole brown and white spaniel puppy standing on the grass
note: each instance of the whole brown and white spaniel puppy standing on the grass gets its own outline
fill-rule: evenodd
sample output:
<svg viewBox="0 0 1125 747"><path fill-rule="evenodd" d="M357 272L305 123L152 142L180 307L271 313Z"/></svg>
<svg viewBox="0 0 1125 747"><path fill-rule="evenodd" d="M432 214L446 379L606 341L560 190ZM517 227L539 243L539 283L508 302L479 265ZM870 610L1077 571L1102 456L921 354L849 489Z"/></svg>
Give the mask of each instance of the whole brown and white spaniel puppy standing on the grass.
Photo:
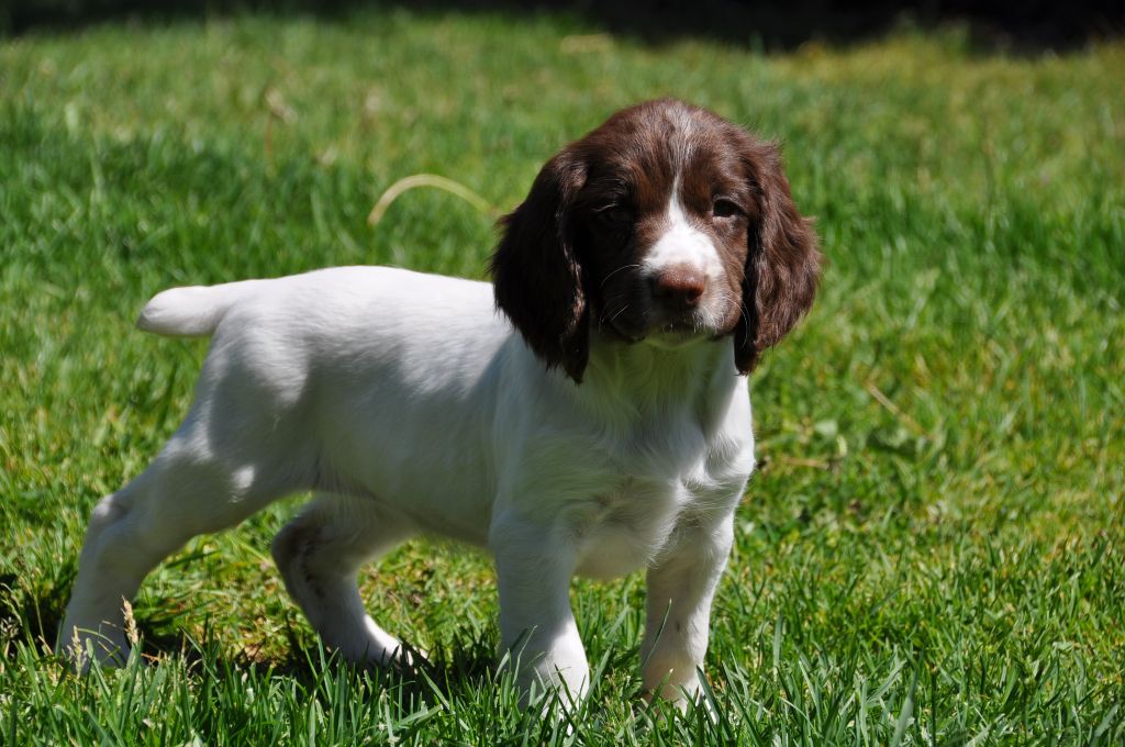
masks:
<svg viewBox="0 0 1125 747"><path fill-rule="evenodd" d="M357 572L436 534L494 556L524 688L580 698L570 578L644 569L646 693L696 695L754 468L746 374L812 304L816 235L775 145L675 100L565 147L502 228L493 285L351 267L148 303L142 330L213 341L182 425L90 518L76 666L126 655L124 602L169 554L313 490L272 551L343 657L404 656Z"/></svg>

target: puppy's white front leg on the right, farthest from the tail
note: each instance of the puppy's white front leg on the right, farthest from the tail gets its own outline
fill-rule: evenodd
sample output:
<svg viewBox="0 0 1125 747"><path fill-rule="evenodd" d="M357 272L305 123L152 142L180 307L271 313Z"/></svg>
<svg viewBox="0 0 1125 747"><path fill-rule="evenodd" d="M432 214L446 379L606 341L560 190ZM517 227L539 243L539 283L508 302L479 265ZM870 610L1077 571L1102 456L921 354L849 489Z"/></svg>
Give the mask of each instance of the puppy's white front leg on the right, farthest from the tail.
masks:
<svg viewBox="0 0 1125 747"><path fill-rule="evenodd" d="M699 694L711 600L734 539L730 515L685 531L648 572L641 675L648 698L684 710Z"/></svg>

